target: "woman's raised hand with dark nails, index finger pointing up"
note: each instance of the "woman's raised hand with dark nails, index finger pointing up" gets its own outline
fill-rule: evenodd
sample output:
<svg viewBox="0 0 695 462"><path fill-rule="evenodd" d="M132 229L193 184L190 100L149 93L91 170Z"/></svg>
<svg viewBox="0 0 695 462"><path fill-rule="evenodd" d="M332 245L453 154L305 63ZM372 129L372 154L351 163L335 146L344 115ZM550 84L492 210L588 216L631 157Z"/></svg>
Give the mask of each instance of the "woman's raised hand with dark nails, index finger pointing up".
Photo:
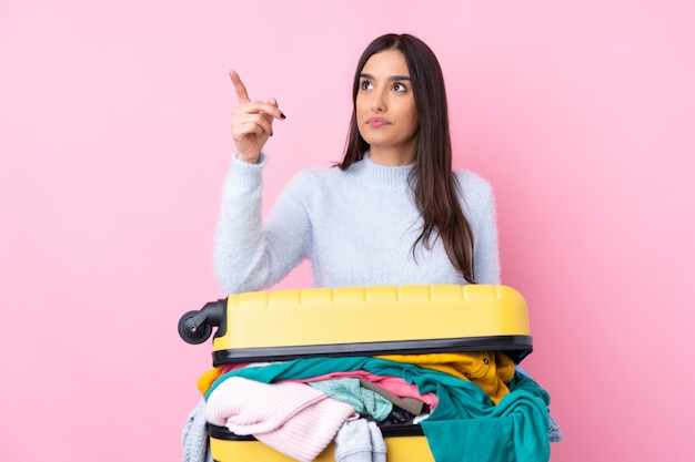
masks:
<svg viewBox="0 0 695 462"><path fill-rule="evenodd" d="M239 106L232 114L232 137L236 153L241 161L255 164L268 137L273 134L273 120L284 120L285 116L278 109L278 101L274 97L266 103L251 101L239 74L230 71L229 75L239 97Z"/></svg>

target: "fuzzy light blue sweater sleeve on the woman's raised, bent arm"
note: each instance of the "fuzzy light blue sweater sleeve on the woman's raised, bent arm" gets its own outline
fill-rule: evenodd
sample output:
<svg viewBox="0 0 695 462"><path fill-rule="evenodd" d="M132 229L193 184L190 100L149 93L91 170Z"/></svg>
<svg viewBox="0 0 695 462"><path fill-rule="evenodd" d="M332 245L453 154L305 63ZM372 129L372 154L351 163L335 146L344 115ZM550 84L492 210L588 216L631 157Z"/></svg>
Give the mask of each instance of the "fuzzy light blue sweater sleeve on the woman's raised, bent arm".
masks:
<svg viewBox="0 0 695 462"><path fill-rule="evenodd" d="M310 225L293 189L282 193L263 223L262 172L266 162L265 155L258 164L234 156L224 181L213 265L218 284L228 295L265 290L306 257Z"/></svg>

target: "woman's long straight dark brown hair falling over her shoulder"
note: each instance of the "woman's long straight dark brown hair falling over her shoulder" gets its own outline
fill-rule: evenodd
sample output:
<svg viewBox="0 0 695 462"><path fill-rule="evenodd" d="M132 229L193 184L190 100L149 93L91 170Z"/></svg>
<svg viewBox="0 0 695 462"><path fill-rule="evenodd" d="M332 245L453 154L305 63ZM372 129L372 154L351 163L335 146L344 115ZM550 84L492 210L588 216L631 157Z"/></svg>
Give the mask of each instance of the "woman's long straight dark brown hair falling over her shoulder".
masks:
<svg viewBox="0 0 695 462"><path fill-rule="evenodd" d="M422 40L410 34L390 33L376 38L362 53L352 88L353 110L348 142L343 161L338 167L343 171L350 168L363 158L364 152L370 147L360 135L355 100L364 64L373 54L384 50L399 50L403 53L420 117L415 165L409 183L423 218L423 226L413 243L413 257L416 257L419 244L431 249L436 239L441 238L452 265L469 283L474 283L473 232L461 208L457 194L460 185L452 171L444 76L436 57Z"/></svg>

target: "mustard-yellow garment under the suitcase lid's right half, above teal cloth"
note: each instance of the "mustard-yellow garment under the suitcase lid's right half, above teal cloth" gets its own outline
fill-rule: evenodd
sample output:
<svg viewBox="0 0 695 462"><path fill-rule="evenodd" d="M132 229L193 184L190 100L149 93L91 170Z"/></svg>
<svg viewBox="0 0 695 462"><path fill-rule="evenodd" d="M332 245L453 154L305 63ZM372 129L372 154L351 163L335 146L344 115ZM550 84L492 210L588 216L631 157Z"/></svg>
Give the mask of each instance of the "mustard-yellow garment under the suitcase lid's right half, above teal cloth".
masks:
<svg viewBox="0 0 695 462"><path fill-rule="evenodd" d="M386 355L376 358L406 362L470 380L483 389L495 404L510 392L506 384L514 378L514 361L500 351Z"/></svg>

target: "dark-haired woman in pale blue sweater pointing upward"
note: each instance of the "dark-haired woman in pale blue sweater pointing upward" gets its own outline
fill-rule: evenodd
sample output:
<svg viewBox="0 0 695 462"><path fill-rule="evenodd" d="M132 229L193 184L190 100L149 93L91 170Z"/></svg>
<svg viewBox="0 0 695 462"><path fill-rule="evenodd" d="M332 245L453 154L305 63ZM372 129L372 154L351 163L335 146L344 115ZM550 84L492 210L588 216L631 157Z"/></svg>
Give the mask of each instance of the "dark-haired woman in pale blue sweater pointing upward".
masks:
<svg viewBox="0 0 695 462"><path fill-rule="evenodd" d="M444 80L425 43L386 34L366 48L342 162L296 175L265 223L262 150L285 116L230 75L236 155L214 242L224 292L266 289L306 258L316 287L500 284L493 192L452 172Z"/></svg>

